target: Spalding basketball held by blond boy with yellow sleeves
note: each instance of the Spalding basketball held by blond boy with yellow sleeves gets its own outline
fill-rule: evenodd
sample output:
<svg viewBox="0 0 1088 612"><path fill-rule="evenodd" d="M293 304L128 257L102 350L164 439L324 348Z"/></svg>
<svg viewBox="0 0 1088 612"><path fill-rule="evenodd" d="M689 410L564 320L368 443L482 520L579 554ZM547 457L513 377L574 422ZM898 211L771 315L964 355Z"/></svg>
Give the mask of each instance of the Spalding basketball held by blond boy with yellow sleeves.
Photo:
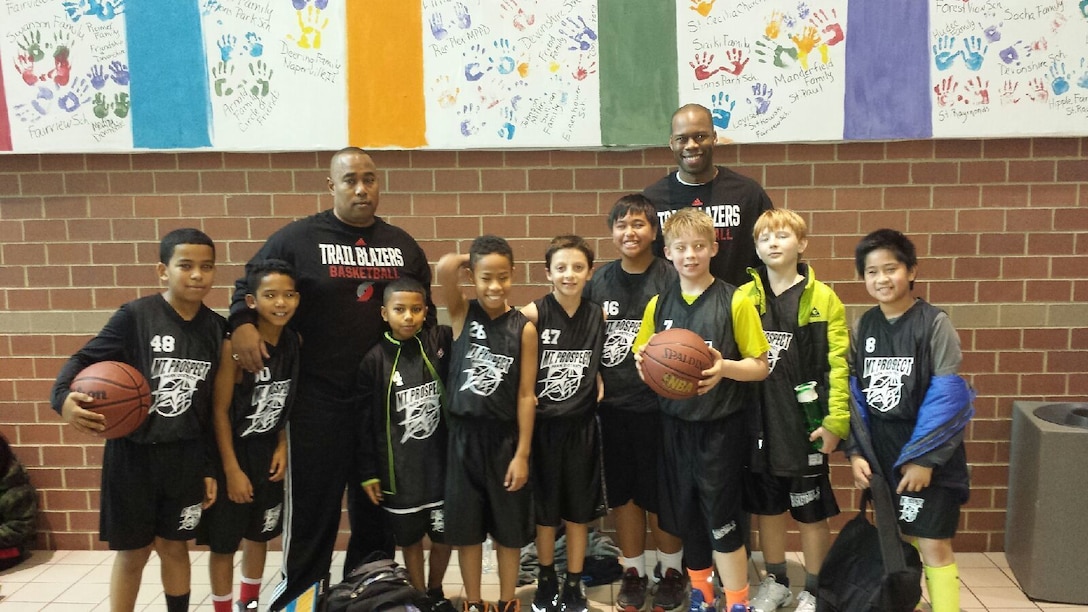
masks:
<svg viewBox="0 0 1088 612"><path fill-rule="evenodd" d="M655 334L642 357L646 385L669 400L694 397L703 370L714 364L706 342L697 333L681 328Z"/></svg>

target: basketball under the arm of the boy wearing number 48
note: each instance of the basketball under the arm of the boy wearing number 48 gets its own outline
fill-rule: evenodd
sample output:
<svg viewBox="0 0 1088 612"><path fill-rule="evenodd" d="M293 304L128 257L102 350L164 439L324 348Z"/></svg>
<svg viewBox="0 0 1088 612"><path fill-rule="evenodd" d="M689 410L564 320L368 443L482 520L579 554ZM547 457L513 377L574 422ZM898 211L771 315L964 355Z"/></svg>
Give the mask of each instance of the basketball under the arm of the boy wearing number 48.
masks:
<svg viewBox="0 0 1088 612"><path fill-rule="evenodd" d="M83 369L69 385L95 401L84 406L106 415L102 438L123 438L144 425L151 408L151 388L144 375L128 364L99 362Z"/></svg>

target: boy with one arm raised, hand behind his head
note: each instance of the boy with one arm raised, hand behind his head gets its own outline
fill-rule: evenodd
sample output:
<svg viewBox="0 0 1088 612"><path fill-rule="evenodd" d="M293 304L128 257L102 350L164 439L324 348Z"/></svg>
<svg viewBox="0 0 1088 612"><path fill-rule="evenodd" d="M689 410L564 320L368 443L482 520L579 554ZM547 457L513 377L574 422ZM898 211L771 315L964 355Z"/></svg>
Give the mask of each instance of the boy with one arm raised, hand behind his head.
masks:
<svg viewBox="0 0 1088 612"><path fill-rule="evenodd" d="M468 268L477 298L461 293ZM514 250L503 238L472 241L435 268L454 328L446 541L459 547L465 612L485 612L480 592L482 547L490 533L498 555L497 612L518 612L521 547L533 538L529 454L536 412L536 327L507 303Z"/></svg>

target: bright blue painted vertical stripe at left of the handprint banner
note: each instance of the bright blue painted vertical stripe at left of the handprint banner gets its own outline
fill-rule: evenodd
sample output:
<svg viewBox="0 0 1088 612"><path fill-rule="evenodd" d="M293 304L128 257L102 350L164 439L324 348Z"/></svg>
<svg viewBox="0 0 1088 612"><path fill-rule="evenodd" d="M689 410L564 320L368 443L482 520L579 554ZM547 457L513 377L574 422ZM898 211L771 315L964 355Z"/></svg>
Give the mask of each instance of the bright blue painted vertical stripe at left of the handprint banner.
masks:
<svg viewBox="0 0 1088 612"><path fill-rule="evenodd" d="M200 2L125 3L133 146L211 146Z"/></svg>

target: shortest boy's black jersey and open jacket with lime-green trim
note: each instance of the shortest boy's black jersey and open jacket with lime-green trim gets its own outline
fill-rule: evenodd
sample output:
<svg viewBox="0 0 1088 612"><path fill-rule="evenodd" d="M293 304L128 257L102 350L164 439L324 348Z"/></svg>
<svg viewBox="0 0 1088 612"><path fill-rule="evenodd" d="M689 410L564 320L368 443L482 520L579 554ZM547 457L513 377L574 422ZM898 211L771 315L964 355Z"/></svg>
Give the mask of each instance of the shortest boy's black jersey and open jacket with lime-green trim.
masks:
<svg viewBox="0 0 1088 612"><path fill-rule="evenodd" d="M387 507L416 509L445 493L452 343L449 326L426 326L406 341L386 332L359 365L362 476L381 480Z"/></svg>

